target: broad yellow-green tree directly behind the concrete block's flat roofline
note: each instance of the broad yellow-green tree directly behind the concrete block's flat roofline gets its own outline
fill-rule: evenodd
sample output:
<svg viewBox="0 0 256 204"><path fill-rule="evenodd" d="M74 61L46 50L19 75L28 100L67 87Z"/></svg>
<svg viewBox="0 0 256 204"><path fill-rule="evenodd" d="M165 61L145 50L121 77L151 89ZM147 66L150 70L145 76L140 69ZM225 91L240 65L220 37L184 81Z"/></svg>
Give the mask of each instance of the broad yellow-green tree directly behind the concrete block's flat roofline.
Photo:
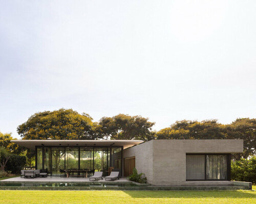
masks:
<svg viewBox="0 0 256 204"><path fill-rule="evenodd" d="M157 132L157 139L225 139L225 125L217 120L181 120Z"/></svg>

